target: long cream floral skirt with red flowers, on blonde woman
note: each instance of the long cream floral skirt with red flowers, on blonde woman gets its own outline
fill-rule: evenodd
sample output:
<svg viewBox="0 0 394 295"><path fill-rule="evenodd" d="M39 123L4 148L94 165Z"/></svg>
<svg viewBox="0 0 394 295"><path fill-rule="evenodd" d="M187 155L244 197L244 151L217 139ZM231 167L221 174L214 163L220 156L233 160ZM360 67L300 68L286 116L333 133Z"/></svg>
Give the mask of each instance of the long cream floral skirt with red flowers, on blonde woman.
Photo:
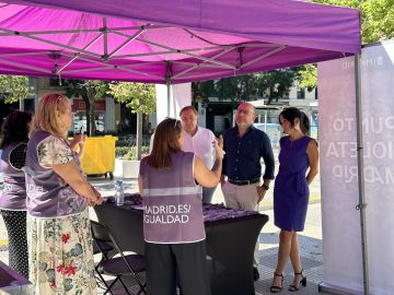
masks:
<svg viewBox="0 0 394 295"><path fill-rule="evenodd" d="M55 219L27 217L30 280L36 295L95 295L88 209Z"/></svg>

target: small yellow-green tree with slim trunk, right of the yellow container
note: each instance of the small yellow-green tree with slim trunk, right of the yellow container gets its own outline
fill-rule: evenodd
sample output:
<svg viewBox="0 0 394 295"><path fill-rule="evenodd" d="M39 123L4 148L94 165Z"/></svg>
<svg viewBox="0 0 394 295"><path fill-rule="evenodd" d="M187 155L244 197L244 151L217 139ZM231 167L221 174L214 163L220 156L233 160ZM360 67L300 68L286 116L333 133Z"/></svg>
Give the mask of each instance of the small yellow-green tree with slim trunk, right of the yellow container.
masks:
<svg viewBox="0 0 394 295"><path fill-rule="evenodd" d="M142 114L155 111L155 88L152 84L113 82L108 94L119 103L126 103L131 113L137 114L137 151L136 157L141 158L142 146Z"/></svg>

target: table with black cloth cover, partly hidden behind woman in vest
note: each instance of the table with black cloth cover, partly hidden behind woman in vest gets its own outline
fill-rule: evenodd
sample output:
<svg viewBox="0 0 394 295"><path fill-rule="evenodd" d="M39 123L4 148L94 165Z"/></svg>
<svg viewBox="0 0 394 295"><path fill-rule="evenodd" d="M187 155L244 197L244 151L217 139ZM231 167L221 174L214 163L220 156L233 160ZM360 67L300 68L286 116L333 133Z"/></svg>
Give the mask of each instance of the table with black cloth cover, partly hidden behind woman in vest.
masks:
<svg viewBox="0 0 394 295"><path fill-rule="evenodd" d="M123 250L143 255L141 209L134 202L130 204L127 198L123 206L111 202L94 206L99 222L111 228ZM231 216L234 215L232 211L222 205L205 205L204 209L212 295L254 295L254 247L268 216L242 210L233 210L235 216ZM215 214L209 213L213 211Z"/></svg>

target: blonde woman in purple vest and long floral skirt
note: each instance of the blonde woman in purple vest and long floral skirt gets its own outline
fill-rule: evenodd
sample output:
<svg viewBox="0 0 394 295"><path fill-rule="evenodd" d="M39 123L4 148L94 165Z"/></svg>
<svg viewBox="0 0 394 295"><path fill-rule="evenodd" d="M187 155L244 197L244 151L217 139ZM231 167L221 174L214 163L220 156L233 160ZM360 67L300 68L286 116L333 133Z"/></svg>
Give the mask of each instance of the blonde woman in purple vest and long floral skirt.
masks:
<svg viewBox="0 0 394 295"><path fill-rule="evenodd" d="M88 205L102 203L67 141L70 101L40 98L26 154L30 280L35 294L96 294Z"/></svg>

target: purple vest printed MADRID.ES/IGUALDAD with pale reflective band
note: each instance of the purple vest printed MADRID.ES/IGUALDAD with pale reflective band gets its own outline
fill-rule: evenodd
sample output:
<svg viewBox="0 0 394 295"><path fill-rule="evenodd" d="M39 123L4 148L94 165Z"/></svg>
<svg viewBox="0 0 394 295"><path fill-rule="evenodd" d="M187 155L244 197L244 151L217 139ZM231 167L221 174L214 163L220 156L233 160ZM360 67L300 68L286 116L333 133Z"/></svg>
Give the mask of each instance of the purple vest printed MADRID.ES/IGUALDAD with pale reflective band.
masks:
<svg viewBox="0 0 394 295"><path fill-rule="evenodd" d="M141 161L143 235L148 243L183 244L205 239L202 189L193 176L194 154L172 154L172 167L158 170Z"/></svg>

